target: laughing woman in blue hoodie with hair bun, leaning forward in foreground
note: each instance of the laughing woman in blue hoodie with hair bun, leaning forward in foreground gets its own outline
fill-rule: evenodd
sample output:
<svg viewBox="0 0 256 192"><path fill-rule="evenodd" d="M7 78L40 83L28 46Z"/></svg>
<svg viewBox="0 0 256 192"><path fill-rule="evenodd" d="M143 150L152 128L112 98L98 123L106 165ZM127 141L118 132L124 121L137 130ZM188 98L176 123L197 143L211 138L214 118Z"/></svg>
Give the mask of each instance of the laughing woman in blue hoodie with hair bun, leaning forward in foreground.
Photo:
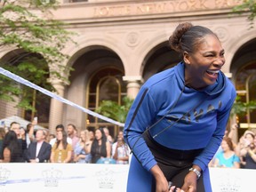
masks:
<svg viewBox="0 0 256 192"><path fill-rule="evenodd" d="M211 192L208 164L220 147L234 85L220 71L219 38L181 23L169 39L182 61L143 84L124 125L132 150L127 192Z"/></svg>

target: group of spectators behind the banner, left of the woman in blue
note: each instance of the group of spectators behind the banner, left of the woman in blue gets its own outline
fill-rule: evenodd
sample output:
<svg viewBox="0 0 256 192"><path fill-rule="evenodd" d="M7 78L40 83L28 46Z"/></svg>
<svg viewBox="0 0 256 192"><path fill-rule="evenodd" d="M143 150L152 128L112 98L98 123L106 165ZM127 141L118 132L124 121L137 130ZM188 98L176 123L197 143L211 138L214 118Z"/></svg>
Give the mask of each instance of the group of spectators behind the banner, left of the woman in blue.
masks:
<svg viewBox="0 0 256 192"><path fill-rule="evenodd" d="M58 124L50 134L48 129L36 130L36 124L34 120L27 128L18 122L0 127L0 162L128 164L122 130L113 139L107 127L78 132L74 124Z"/></svg>

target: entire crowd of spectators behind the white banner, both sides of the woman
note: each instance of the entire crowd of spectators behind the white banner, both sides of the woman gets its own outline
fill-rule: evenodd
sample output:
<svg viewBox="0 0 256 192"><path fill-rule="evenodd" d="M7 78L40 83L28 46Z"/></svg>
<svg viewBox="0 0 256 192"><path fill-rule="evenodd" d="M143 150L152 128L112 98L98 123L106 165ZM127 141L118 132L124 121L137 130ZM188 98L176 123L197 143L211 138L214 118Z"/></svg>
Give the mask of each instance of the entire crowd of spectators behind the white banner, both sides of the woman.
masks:
<svg viewBox="0 0 256 192"><path fill-rule="evenodd" d="M48 130L34 130L36 123L28 124L27 129L12 122L9 129L0 127L0 162L28 163L82 163L82 164L128 164L130 149L124 141L124 132L118 132L116 139L108 128L95 132L77 132L74 124L56 126L56 134ZM256 169L256 135L245 131L236 141L232 135L237 132L233 124L224 136L220 148L212 158L210 167Z"/></svg>

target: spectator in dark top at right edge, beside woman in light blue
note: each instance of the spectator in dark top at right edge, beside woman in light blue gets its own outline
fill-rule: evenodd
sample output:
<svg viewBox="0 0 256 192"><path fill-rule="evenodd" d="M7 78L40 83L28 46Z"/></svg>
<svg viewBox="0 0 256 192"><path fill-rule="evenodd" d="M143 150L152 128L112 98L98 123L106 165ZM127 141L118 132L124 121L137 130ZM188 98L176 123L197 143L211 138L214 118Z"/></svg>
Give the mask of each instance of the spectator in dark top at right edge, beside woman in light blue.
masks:
<svg viewBox="0 0 256 192"><path fill-rule="evenodd" d="M243 168L256 169L255 133L245 131L240 143L240 159Z"/></svg>

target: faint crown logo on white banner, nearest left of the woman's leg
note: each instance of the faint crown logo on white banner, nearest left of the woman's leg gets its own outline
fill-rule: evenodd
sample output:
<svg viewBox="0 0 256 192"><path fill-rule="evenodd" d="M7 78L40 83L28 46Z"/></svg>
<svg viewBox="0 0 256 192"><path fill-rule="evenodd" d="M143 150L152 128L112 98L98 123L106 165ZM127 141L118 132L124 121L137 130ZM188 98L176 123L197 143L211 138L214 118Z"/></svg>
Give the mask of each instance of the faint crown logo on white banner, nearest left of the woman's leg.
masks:
<svg viewBox="0 0 256 192"><path fill-rule="evenodd" d="M96 172L95 176L98 179L99 182L99 188L105 188L105 189L111 189L114 188L114 172L111 170L108 170L106 168L105 170L100 170L100 172Z"/></svg>

